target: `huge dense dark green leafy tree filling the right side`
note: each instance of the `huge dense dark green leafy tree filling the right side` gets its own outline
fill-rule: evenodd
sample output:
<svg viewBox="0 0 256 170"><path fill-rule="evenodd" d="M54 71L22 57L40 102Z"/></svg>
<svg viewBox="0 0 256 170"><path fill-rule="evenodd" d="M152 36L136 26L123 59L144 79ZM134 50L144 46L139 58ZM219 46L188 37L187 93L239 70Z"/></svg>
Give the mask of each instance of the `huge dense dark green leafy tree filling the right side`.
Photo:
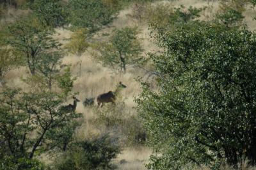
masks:
<svg viewBox="0 0 256 170"><path fill-rule="evenodd" d="M255 33L205 22L161 39L165 52L150 56L159 90L144 82L137 99L156 151L150 169L255 165L255 44Z"/></svg>

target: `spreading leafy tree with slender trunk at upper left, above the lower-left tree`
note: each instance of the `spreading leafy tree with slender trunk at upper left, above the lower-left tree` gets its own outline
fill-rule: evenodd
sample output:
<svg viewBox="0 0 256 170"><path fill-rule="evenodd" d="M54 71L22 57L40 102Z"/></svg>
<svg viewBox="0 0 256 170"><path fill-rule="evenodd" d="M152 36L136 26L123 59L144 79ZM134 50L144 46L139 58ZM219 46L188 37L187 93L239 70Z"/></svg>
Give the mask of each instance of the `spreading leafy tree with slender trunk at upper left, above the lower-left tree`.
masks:
<svg viewBox="0 0 256 170"><path fill-rule="evenodd" d="M4 41L19 52L31 74L34 75L36 64L42 58L42 55L49 52L49 50L56 50L60 47L60 43L57 43L51 37L52 34L51 29L47 29L32 15L31 18L20 19L13 24L9 24Z"/></svg>

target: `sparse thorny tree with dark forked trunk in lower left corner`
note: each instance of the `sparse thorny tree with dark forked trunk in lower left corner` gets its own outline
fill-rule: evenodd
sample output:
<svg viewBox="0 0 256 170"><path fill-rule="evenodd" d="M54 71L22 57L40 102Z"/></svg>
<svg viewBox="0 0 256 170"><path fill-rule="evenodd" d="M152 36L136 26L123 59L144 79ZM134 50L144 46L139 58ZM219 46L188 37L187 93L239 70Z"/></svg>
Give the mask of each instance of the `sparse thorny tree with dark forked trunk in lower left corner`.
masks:
<svg viewBox="0 0 256 170"><path fill-rule="evenodd" d="M47 144L52 141L47 132L80 116L61 112L63 100L52 92L4 89L0 102L0 160L10 156L16 163L20 158L32 159L47 151Z"/></svg>

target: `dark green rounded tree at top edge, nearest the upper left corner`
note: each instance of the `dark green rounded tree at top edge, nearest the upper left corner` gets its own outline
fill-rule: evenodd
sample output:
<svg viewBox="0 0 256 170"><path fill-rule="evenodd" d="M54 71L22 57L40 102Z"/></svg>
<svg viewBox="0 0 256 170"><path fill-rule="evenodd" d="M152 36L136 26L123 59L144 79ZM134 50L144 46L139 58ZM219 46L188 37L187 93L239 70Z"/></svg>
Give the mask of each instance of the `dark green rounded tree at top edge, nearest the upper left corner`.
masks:
<svg viewBox="0 0 256 170"><path fill-rule="evenodd" d="M67 22L67 12L61 0L35 0L29 8L47 26L63 26Z"/></svg>

